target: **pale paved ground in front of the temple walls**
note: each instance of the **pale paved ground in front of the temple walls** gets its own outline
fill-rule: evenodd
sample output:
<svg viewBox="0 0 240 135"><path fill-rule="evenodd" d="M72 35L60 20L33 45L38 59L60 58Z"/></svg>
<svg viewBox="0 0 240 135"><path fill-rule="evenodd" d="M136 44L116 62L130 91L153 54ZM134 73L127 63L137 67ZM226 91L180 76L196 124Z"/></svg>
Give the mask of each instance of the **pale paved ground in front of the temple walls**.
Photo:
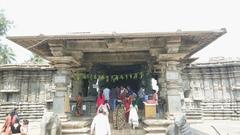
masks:
<svg viewBox="0 0 240 135"><path fill-rule="evenodd" d="M3 123L0 123L2 126ZM203 123L191 124L192 128L208 133L209 135L218 135L211 126L214 126L220 135L240 135L240 121L231 120L205 120ZM39 135L40 123L29 123L29 135Z"/></svg>

